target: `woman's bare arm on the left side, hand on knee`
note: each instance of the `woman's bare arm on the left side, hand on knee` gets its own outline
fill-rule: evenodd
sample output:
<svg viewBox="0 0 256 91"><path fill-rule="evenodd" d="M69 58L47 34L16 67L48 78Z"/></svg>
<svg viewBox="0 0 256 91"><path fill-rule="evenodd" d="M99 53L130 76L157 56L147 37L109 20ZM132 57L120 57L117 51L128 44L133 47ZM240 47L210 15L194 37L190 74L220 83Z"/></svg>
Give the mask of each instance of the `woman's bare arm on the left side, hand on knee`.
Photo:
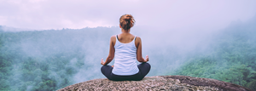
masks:
<svg viewBox="0 0 256 91"><path fill-rule="evenodd" d="M112 36L110 38L110 44L109 44L110 48L109 48L108 57L107 57L105 62L102 59L102 62L101 62L102 65L108 65L108 63L110 63L113 60L113 57L114 57L114 47L113 47L114 43L115 43L115 36Z"/></svg>

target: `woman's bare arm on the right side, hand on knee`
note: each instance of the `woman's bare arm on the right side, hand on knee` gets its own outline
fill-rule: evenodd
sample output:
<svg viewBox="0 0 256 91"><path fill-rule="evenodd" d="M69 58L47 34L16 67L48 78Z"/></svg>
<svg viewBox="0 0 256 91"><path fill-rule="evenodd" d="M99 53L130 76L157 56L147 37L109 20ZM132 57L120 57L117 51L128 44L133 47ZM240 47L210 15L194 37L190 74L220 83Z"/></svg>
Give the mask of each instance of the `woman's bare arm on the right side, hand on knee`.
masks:
<svg viewBox="0 0 256 91"><path fill-rule="evenodd" d="M148 55L145 59L143 59L143 52L142 52L142 40L141 37L136 37L136 47L137 47L137 61L139 62L148 62Z"/></svg>

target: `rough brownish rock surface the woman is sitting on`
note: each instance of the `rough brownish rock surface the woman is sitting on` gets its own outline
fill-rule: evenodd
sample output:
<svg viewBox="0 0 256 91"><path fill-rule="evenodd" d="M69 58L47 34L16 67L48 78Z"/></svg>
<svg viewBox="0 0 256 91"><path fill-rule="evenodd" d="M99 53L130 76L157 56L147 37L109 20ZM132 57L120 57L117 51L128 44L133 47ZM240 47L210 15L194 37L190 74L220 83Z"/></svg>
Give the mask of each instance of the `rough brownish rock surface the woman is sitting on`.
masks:
<svg viewBox="0 0 256 91"><path fill-rule="evenodd" d="M209 78L187 76L145 77L142 81L110 81L107 78L79 82L58 91L253 91Z"/></svg>

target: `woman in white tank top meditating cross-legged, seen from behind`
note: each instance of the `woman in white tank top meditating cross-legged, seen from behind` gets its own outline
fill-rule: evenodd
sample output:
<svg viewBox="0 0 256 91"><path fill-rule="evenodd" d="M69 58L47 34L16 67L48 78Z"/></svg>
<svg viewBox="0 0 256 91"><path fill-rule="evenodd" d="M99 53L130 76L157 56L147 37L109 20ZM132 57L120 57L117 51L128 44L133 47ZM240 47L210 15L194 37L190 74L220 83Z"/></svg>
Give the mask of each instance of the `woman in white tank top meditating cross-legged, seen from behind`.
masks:
<svg viewBox="0 0 256 91"><path fill-rule="evenodd" d="M145 59L142 56L142 41L140 37L133 36L130 29L134 26L135 20L131 14L124 14L119 19L119 27L122 33L110 38L110 48L107 60L102 59L102 74L109 80L139 81L145 77L150 65L148 55ZM114 64L108 65L115 57ZM142 62L137 65L136 61Z"/></svg>

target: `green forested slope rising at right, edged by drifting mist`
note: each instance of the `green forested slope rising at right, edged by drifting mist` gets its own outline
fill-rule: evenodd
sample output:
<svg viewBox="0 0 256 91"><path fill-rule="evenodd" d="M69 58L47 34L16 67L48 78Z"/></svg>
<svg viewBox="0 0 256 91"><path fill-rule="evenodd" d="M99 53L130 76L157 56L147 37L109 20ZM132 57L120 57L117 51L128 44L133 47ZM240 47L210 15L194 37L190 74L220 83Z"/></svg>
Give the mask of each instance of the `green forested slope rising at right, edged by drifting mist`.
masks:
<svg viewBox="0 0 256 91"><path fill-rule="evenodd" d="M213 36L205 54L189 58L172 75L207 77L256 90L256 20L236 22Z"/></svg>

